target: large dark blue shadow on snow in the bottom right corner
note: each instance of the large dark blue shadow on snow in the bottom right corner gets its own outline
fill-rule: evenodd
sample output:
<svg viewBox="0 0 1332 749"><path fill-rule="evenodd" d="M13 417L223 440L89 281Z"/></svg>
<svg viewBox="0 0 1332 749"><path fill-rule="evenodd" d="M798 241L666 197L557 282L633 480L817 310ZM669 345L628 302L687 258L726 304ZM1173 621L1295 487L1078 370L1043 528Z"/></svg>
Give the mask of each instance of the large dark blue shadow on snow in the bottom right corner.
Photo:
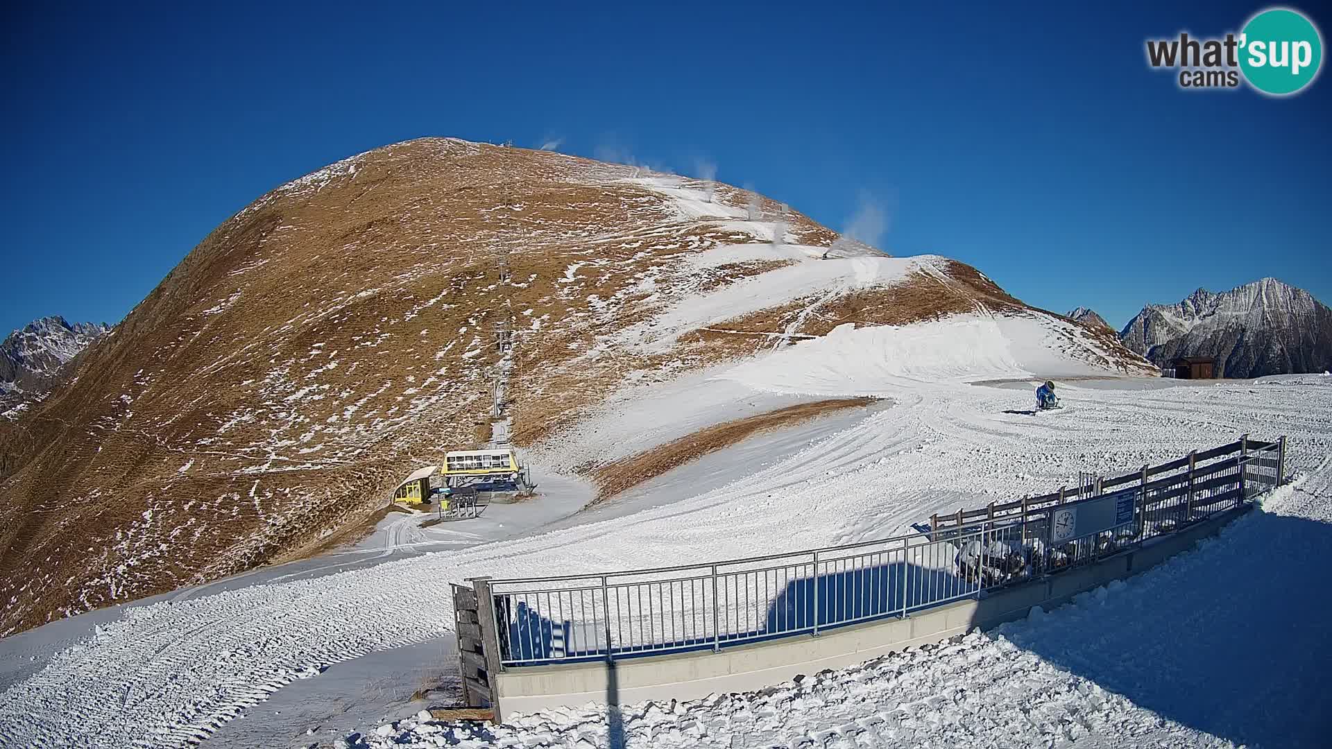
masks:
<svg viewBox="0 0 1332 749"><path fill-rule="evenodd" d="M1321 746L1332 734L1328 560L1332 524L1253 510L1204 550L999 633L1235 744ZM978 620L988 613L982 602Z"/></svg>

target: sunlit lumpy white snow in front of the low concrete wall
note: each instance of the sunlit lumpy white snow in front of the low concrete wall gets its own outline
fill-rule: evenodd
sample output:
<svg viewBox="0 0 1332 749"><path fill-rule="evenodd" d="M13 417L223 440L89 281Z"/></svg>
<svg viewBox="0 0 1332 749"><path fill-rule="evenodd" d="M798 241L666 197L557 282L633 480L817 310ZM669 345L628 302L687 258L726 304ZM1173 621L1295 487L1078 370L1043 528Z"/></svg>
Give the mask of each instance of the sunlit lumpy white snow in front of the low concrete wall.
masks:
<svg viewBox="0 0 1332 749"><path fill-rule="evenodd" d="M589 706L518 716L485 728L408 718L346 745L951 748L1060 746L1102 737L1172 746L1229 745L980 633L762 692L629 705L621 709L621 720L623 741L611 740L606 709Z"/></svg>

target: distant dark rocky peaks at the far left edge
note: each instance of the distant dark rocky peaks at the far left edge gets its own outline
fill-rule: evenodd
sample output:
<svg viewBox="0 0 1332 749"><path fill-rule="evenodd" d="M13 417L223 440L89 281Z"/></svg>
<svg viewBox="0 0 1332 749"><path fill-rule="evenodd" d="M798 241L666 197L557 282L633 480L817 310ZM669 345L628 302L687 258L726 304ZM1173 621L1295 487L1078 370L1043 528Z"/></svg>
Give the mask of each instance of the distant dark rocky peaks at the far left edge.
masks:
<svg viewBox="0 0 1332 749"><path fill-rule="evenodd" d="M60 368L108 332L104 323L71 324L52 315L9 333L0 343L0 406L12 406L20 393L45 389Z"/></svg>

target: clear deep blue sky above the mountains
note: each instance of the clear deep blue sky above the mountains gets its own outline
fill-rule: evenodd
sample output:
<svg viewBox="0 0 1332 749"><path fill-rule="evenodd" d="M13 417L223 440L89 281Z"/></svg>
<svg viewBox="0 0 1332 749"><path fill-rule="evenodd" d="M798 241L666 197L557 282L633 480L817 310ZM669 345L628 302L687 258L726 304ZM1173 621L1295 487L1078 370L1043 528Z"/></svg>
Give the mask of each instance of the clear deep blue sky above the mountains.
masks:
<svg viewBox="0 0 1332 749"><path fill-rule="evenodd" d="M1332 77L1189 93L1144 61L1257 4L131 5L0 11L0 329L119 321L265 191L426 135L707 160L834 228L870 195L888 252L1116 327L1263 276L1332 301Z"/></svg>

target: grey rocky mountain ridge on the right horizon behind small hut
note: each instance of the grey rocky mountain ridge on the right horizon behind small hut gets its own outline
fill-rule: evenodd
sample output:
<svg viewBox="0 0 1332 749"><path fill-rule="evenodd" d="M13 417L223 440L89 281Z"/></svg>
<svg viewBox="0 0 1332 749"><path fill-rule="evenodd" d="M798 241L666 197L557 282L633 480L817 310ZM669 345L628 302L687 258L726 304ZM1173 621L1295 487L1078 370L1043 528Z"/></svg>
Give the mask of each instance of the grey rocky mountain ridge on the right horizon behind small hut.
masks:
<svg viewBox="0 0 1332 749"><path fill-rule="evenodd" d="M1179 304L1150 304L1119 337L1158 367L1181 356L1215 357L1224 377L1332 368L1332 309L1276 279L1220 293L1197 289Z"/></svg>

